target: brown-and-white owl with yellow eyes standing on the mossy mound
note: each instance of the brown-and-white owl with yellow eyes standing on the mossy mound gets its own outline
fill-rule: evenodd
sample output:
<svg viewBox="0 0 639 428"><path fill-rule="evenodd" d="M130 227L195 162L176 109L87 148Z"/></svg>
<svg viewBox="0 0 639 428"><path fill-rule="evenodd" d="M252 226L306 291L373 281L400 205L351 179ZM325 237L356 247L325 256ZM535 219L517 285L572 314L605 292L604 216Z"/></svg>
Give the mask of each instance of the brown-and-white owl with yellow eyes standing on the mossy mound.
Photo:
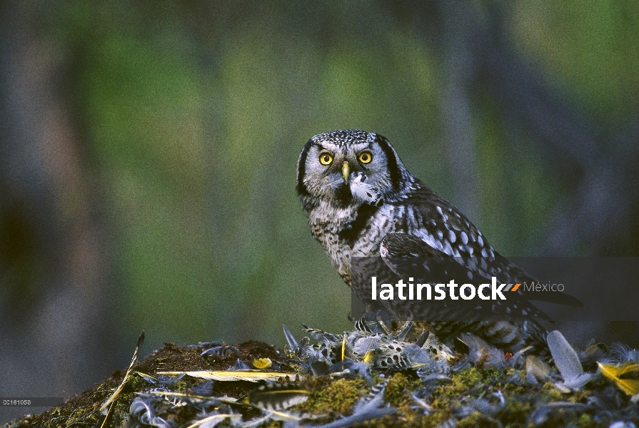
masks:
<svg viewBox="0 0 639 428"><path fill-rule="evenodd" d="M384 308L394 317L411 312L443 340L470 332L512 352L530 342L544 342L545 329L537 320L549 318L520 291L509 293L505 301L415 300L390 305L373 302L359 285L355 260L366 260L366 275L375 275L380 283L395 284L423 272L455 272L485 282L496 277L505 284L534 281L497 253L453 204L411 174L383 136L358 129L313 136L298 158L297 193L311 234L369 308ZM414 270L417 265L423 265L421 270ZM553 293L552 299L581 305L563 293Z"/></svg>

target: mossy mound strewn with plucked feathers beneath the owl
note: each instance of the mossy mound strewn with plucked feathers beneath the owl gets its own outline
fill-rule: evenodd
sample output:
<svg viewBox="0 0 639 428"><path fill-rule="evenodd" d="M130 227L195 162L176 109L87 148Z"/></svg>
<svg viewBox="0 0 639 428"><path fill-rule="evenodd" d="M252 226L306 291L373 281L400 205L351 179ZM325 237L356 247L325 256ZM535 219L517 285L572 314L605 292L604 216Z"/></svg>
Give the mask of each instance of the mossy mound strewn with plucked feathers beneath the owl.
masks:
<svg viewBox="0 0 639 428"><path fill-rule="evenodd" d="M214 344L213 344L214 345ZM486 367L481 363L470 364L462 355L456 357L451 370L446 373L425 374L418 370L377 370L368 367L366 374L351 369L363 362L337 361L330 370L313 375L305 367L300 352L290 347L276 350L262 342L245 342L234 347L218 345L219 352L202 355L212 344L180 347L167 343L161 350L137 362L134 370L158 377L158 372L228 370L245 365L251 367L256 359L269 359L271 370L297 370L303 378L298 379L291 392L288 384L271 384L276 392L296 397L306 394L303 402L288 407L260 407L251 402L251 394L266 382L203 380L196 377L176 377L174 382L164 384L163 391L186 394L206 394L220 397L211 407L197 407L188 398L163 401L161 407L148 401L158 419L144 419L134 415L131 404L145 397L157 384L140 374L131 375L121 394L114 402L109 426L111 427L189 427L201 423L206 412L224 414L216 424L202 426L281 427L283 421L293 426L315 426L343 422L341 426L363 424L367 427L609 427L615 422L620 427L639 425L639 406L628 394L623 393L609 379L593 373L588 383L578 390L569 390L553 381L530 382L524 367L502 365ZM298 345L299 346L299 345ZM306 345L308 346L308 345ZM298 349L301 349L299 347ZM308 347L310 352L311 347ZM339 355L340 352L333 352ZM346 352L344 352L346 354ZM338 358L339 359L339 358ZM465 362L465 364L458 364ZM360 367L361 369L361 367ZM114 392L124 379L123 371L78 397L69 399L39 415L27 415L5 428L21 427L96 427L99 422L101 404ZM287 379L290 382L291 379ZM288 390L286 390L288 387ZM208 389L207 389L208 388ZM268 387L267 387L268 388ZM206 389L206 392L203 390ZM371 393L372 391L372 393ZM366 417L373 407L371 396L378 392L376 409L378 416ZM150 397L146 395L146 397ZM225 399L224 397L229 397ZM166 397L165 397L166 398ZM238 399L237 401L235 399ZM290 399L290 397L289 397ZM226 401L225 401L226 400ZM223 403L223 404L220 404ZM271 405L269 404L269 405ZM364 414L363 414L364 413ZM374 413L374 412L373 412ZM371 414L373 414L371 413ZM231 417L231 414L232 417ZM290 419L286 419L290 417ZM348 419L348 418L351 419ZM283 418L283 419L282 419ZM213 420L213 419L211 419ZM161 421L161 422L158 422ZM198 422L199 421L199 422ZM633 425L635 424L635 425Z"/></svg>

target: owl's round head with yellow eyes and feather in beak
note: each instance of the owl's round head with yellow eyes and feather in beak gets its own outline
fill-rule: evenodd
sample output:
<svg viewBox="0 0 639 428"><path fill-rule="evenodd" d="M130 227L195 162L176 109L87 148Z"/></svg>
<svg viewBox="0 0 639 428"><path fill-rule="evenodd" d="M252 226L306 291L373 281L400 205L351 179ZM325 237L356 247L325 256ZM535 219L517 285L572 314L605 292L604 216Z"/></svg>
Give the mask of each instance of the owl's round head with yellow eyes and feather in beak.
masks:
<svg viewBox="0 0 639 428"><path fill-rule="evenodd" d="M352 206L396 200L411 178L386 138L359 129L312 137L297 163L298 195L311 204Z"/></svg>

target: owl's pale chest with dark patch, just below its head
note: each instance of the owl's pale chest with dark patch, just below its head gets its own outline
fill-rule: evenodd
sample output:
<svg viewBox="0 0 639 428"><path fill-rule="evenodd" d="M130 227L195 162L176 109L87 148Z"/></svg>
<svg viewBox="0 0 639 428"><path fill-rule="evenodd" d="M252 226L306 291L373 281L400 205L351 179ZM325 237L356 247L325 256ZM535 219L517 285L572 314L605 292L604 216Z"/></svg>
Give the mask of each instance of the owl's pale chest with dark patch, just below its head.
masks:
<svg viewBox="0 0 639 428"><path fill-rule="evenodd" d="M311 233L348 285L351 285L351 259L378 257L381 240L388 233L406 227L403 208L393 205L318 210L311 213L309 220Z"/></svg>

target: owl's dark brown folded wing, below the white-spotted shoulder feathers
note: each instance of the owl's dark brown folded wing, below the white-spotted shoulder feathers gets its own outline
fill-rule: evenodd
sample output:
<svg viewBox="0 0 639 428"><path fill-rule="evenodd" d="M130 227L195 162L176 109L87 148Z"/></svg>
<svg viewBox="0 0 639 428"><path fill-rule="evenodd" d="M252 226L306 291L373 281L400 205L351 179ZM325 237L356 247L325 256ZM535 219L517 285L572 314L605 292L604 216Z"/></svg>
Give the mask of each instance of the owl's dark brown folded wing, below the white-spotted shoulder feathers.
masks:
<svg viewBox="0 0 639 428"><path fill-rule="evenodd" d="M490 283L485 269L477 266L476 258L451 257L441 250L407 233L389 233L380 244L380 254L386 265L402 279L411 277L413 282L444 283L454 279L458 285ZM548 321L550 317L532 305L519 290L507 292L508 300L447 300L446 305L509 317L538 317Z"/></svg>

